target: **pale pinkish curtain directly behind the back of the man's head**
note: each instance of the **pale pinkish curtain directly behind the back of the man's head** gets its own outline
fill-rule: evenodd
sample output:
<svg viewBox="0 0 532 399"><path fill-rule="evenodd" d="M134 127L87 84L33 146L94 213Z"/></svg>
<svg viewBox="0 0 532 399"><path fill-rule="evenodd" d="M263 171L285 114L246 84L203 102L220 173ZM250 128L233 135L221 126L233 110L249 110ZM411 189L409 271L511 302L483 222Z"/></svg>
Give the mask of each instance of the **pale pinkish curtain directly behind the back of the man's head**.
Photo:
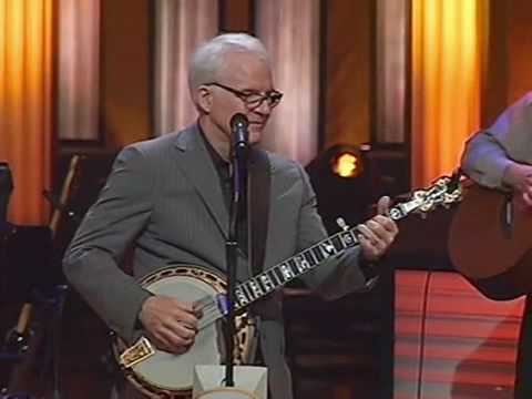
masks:
<svg viewBox="0 0 532 399"><path fill-rule="evenodd" d="M155 0L155 132L168 133L196 119L188 94L188 60L218 32L217 0Z"/></svg>

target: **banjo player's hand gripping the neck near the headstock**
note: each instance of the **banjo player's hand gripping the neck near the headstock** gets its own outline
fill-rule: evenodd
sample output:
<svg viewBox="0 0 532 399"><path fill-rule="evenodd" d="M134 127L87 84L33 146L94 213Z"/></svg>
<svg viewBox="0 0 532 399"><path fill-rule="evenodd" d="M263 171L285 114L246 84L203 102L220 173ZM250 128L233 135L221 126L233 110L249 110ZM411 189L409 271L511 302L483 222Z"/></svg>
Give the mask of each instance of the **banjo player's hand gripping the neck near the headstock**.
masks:
<svg viewBox="0 0 532 399"><path fill-rule="evenodd" d="M383 196L377 204L377 215L358 226L362 256L368 262L378 260L393 242L398 227L389 216L390 198Z"/></svg>

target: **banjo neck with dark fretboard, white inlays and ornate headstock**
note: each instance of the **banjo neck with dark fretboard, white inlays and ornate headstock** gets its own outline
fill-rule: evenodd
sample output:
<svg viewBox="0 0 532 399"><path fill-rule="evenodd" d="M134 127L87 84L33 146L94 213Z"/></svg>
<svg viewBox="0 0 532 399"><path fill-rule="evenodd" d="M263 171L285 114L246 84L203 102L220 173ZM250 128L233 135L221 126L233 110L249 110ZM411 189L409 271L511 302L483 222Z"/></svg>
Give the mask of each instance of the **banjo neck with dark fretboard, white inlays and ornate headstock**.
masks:
<svg viewBox="0 0 532 399"><path fill-rule="evenodd" d="M398 221L407 216L419 206L412 202L393 206L390 209L390 217ZM357 247L359 245L357 234L358 227L339 232L239 284L235 288L235 309L247 307L288 282L314 269L320 263L341 255L348 248Z"/></svg>

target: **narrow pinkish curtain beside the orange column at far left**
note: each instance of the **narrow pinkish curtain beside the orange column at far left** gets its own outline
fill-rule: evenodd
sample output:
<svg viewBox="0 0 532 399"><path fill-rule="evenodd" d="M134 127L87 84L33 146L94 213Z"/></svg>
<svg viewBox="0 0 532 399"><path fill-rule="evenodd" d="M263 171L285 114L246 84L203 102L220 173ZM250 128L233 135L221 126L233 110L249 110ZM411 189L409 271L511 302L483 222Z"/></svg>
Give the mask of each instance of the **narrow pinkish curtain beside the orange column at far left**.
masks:
<svg viewBox="0 0 532 399"><path fill-rule="evenodd" d="M100 0L59 0L58 135L99 139Z"/></svg>

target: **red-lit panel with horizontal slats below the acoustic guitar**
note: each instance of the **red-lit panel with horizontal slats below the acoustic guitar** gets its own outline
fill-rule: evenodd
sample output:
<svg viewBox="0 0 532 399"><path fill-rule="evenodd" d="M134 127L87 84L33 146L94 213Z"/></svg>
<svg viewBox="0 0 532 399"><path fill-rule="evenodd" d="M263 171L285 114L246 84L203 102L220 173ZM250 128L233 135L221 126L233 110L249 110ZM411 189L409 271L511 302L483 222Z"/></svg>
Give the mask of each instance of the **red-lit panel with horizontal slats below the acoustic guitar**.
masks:
<svg viewBox="0 0 532 399"><path fill-rule="evenodd" d="M460 275L396 276L396 399L511 399L524 300L489 300Z"/></svg>

